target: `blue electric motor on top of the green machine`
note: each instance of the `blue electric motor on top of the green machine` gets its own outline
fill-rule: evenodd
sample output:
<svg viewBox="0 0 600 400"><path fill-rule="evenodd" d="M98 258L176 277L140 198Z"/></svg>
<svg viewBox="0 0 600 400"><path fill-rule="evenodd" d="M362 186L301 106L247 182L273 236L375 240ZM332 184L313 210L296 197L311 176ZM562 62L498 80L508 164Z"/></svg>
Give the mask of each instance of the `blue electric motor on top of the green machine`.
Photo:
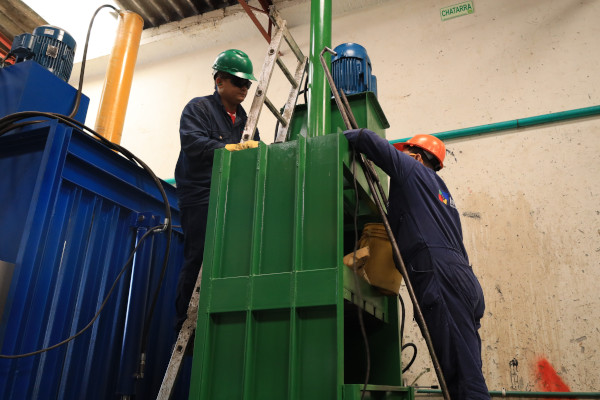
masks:
<svg viewBox="0 0 600 400"><path fill-rule="evenodd" d="M367 50L360 44L344 43L337 46L331 58L333 81L345 94L371 91L377 96L377 78L372 74Z"/></svg>

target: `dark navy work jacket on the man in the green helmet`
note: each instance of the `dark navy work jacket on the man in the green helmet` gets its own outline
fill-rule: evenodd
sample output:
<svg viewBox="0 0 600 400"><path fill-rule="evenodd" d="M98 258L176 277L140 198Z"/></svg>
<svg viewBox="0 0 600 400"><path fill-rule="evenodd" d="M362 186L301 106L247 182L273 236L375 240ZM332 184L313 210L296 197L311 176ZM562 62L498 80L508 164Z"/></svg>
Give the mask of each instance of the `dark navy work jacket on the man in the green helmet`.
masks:
<svg viewBox="0 0 600 400"><path fill-rule="evenodd" d="M239 143L248 119L241 105L235 123L225 111L221 96L196 97L181 113L181 151L175 167L179 207L208 204L213 154L226 144ZM260 140L258 130L254 140Z"/></svg>

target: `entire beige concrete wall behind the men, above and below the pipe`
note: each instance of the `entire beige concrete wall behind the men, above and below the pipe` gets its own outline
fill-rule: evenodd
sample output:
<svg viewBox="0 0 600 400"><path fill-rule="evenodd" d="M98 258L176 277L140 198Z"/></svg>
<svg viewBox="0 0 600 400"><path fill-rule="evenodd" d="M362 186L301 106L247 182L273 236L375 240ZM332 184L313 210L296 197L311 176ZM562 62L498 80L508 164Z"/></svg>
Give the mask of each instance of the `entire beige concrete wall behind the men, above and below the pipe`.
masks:
<svg viewBox="0 0 600 400"><path fill-rule="evenodd" d="M332 44L354 41L368 50L389 139L600 104L600 2L474 0L473 14L442 22L440 9L453 3L334 2ZM310 4L276 4L308 53ZM215 56L240 48L260 71L265 40L239 9L223 17L215 12L144 34L122 144L163 178L173 176L181 109L212 92ZM91 127L105 65L106 57L88 64ZM275 104L287 95L284 79L276 75L271 86ZM266 143L274 126L263 111ZM599 391L600 118L447 146L441 176L463 213L465 244L486 295L480 332L489 388L539 390L561 379L572 391ZM410 315L407 341L417 343L419 357L406 382L435 384ZM544 361L557 377L540 379Z"/></svg>

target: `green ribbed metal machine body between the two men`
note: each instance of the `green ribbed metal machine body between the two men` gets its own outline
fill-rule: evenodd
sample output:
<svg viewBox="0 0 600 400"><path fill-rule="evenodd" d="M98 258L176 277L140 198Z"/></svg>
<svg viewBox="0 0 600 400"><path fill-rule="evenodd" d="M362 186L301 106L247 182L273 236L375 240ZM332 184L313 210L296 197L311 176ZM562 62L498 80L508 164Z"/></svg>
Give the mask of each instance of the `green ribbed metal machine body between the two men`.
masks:
<svg viewBox="0 0 600 400"><path fill-rule="evenodd" d="M350 96L358 123L384 135L372 93ZM331 106L335 133L306 137L298 106L285 143L218 150L213 166L190 399L413 399L402 387L398 299L344 266L368 187ZM360 289L360 290L359 290Z"/></svg>

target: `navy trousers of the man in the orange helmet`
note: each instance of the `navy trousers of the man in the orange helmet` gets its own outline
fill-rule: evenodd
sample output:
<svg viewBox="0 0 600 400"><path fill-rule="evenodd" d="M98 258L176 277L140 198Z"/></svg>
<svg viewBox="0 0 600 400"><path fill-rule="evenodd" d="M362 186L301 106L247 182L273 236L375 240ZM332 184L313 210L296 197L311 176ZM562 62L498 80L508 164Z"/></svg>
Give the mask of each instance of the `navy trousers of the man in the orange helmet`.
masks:
<svg viewBox="0 0 600 400"><path fill-rule="evenodd" d="M422 251L406 267L451 399L490 399L478 333L485 304L472 268L446 249Z"/></svg>

